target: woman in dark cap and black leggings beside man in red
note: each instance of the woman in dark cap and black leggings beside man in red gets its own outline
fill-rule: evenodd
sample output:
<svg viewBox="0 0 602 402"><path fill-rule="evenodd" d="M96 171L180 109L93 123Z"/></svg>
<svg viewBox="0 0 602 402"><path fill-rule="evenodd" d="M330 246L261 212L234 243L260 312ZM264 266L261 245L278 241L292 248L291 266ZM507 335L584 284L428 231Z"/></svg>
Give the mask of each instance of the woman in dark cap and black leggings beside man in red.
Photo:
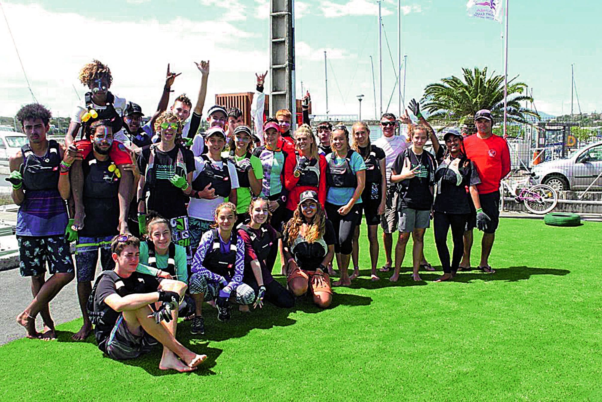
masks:
<svg viewBox="0 0 602 402"><path fill-rule="evenodd" d="M477 184L481 182L474 163L466 157L462 134L447 131L443 140L447 151L435 171L435 204L433 205L433 228L435 244L443 276L435 282L450 280L456 275L464 252L464 228L470 218L471 204L480 210ZM467 192L468 187L468 192ZM453 254L447 248L447 233L452 228Z"/></svg>

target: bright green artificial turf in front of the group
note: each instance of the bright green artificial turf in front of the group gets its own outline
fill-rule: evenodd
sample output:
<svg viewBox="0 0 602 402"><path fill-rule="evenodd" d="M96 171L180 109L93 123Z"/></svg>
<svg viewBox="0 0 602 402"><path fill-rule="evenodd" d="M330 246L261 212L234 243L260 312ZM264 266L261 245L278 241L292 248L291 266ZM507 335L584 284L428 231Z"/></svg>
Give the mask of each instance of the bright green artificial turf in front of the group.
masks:
<svg viewBox="0 0 602 402"><path fill-rule="evenodd" d="M206 307L205 340L192 338L188 323L178 327L184 345L208 355L191 374L159 370L160 350L116 362L93 337L71 342L78 319L58 327L57 342L0 347L0 398L599 401L601 233L596 222L563 228L502 219L494 275L460 272L433 283L441 272L421 272L426 282L415 283L408 248L399 283L389 283L390 273L373 283L363 270L351 287L335 288L327 310L299 300L292 311L234 312L224 324ZM368 268L365 226L360 250ZM425 254L440 269L432 230Z"/></svg>

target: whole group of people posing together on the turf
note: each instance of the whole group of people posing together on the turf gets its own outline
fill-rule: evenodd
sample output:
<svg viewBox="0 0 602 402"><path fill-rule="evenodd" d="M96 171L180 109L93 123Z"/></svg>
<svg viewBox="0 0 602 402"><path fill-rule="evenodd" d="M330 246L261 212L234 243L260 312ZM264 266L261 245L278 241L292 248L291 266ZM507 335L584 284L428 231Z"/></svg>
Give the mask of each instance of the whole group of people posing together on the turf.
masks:
<svg viewBox="0 0 602 402"><path fill-rule="evenodd" d="M407 112L399 120L385 113L383 135L374 142L364 122L350 130L321 122L314 134L309 94L300 127L288 110L264 119L265 74L256 74L255 130L243 124L238 108L214 105L200 131L209 61L195 64L194 108L180 95L167 110L179 75L168 65L157 110L145 125L138 104L110 92L111 71L98 60L79 73L88 92L64 144L47 139L51 113L43 105L17 113L28 143L10 158L7 180L19 205L20 273L32 280L34 299L17 316L29 338L55 338L48 303L77 277L84 322L73 339L87 338L94 325L99 348L113 359L161 344L160 368L193 370L206 356L176 340L178 315L190 321L191 333L204 334L205 302L219 321L228 321L232 306L249 312L265 300L291 308L303 295L329 307L331 287L359 276L362 216L371 280L380 279L378 225L386 255L380 271L393 268L391 281L399 280L410 234L412 278L421 280L421 267L434 270L423 253L431 219L444 272L437 281L470 269L474 227L484 232L479 269L494 272L488 256L510 160L505 140L491 133L489 110L475 113L476 134L445 131L442 144L413 100L418 124ZM428 139L433 153L424 149ZM278 254L286 286L272 276ZM102 272L95 277L99 255ZM331 283L334 259L339 280ZM36 330L38 314L43 333Z"/></svg>

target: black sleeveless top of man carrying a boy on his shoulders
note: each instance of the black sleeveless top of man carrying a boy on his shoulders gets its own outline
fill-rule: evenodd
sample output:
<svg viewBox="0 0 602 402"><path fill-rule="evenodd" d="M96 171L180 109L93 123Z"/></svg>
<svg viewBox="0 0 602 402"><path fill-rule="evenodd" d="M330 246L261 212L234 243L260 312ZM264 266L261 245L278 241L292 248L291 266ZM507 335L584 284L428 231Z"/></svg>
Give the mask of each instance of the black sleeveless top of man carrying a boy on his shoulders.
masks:
<svg viewBox="0 0 602 402"><path fill-rule="evenodd" d="M105 237L119 234L119 181L117 166L110 159L101 161L90 152L82 162L84 174L84 228L79 230L79 236Z"/></svg>

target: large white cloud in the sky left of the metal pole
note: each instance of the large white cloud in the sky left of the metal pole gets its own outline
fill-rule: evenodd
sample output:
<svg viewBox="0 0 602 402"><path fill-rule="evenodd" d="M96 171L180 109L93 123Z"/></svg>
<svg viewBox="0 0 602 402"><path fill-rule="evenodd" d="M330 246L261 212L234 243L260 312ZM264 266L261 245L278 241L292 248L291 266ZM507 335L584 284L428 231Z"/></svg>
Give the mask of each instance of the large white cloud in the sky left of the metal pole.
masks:
<svg viewBox="0 0 602 402"><path fill-rule="evenodd" d="M39 5L3 5L36 98L61 116L78 103L73 86L80 96L85 92L78 72L93 58L110 66L116 95L135 100L144 110L157 105L167 63L172 71L183 73L175 81L175 93L187 92L194 101L200 74L193 60L211 60L206 104L213 104L213 93L253 90L253 73L265 71L269 62L268 46L255 46L259 34L225 21L178 17L167 23L108 22L55 13ZM30 102L31 95L13 46L8 47L11 39L5 27L0 28L0 42L7 44L0 69L0 115L10 116L19 105ZM74 34L84 32L102 32L102 43L93 36Z"/></svg>

